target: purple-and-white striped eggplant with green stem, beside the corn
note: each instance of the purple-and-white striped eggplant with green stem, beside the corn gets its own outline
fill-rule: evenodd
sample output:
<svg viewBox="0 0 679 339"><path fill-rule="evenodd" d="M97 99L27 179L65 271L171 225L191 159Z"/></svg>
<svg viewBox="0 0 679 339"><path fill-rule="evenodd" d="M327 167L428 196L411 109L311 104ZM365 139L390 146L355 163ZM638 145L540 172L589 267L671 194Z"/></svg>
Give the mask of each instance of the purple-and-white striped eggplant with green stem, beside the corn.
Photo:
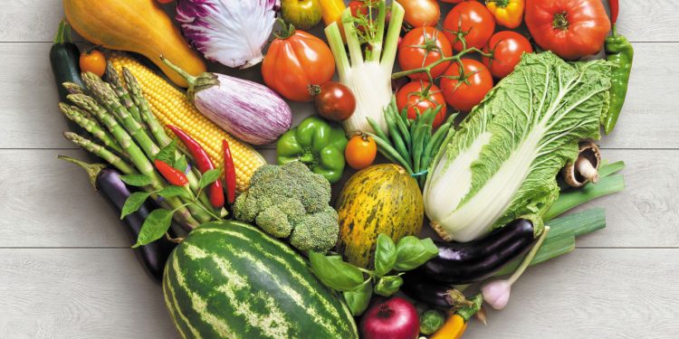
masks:
<svg viewBox="0 0 679 339"><path fill-rule="evenodd" d="M188 97L204 116L234 137L253 145L271 144L290 129L290 106L272 89L224 74L194 77L160 57L188 82Z"/></svg>

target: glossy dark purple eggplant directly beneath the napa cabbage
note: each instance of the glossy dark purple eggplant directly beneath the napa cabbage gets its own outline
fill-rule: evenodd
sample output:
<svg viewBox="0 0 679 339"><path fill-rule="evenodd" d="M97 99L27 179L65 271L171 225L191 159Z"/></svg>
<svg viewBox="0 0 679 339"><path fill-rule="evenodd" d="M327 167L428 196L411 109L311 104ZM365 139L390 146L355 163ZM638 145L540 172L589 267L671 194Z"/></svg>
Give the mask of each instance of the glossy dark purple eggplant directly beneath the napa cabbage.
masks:
<svg viewBox="0 0 679 339"><path fill-rule="evenodd" d="M438 256L407 275L452 285L479 282L531 249L534 240L533 223L517 219L480 240L436 242Z"/></svg>

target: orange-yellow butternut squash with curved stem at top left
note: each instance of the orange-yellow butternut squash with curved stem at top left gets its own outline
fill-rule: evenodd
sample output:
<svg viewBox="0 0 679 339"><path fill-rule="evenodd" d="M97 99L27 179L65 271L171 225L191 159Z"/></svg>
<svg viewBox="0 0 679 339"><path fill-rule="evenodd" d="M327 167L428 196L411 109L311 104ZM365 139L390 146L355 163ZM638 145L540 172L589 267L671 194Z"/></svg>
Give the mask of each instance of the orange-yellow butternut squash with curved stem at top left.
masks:
<svg viewBox="0 0 679 339"><path fill-rule="evenodd" d="M73 29L85 39L111 50L146 56L178 86L188 84L160 61L161 54L190 74L206 71L205 62L155 0L63 0L63 10Z"/></svg>

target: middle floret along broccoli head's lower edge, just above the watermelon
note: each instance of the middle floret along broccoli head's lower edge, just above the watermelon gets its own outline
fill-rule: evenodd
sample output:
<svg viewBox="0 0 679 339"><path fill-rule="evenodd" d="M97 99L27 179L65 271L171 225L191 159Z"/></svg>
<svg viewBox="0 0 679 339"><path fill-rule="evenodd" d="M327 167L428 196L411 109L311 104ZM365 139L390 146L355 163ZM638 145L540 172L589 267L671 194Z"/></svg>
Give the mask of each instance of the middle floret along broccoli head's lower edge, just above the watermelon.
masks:
<svg viewBox="0 0 679 339"><path fill-rule="evenodd" d="M304 206L299 200L287 199L277 205L270 206L257 214L257 225L276 238L288 238L295 227L293 221L306 215Z"/></svg>

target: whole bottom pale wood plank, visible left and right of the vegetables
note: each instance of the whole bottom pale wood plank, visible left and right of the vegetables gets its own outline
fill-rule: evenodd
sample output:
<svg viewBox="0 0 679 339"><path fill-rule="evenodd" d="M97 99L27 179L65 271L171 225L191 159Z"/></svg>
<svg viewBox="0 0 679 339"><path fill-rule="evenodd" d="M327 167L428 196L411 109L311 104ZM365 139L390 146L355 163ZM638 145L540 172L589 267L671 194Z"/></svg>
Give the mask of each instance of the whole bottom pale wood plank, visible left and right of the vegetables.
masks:
<svg viewBox="0 0 679 339"><path fill-rule="evenodd" d="M474 338L674 338L679 250L577 250L530 268ZM175 338L131 250L0 250L0 337ZM654 278L652 278L654 277Z"/></svg>

